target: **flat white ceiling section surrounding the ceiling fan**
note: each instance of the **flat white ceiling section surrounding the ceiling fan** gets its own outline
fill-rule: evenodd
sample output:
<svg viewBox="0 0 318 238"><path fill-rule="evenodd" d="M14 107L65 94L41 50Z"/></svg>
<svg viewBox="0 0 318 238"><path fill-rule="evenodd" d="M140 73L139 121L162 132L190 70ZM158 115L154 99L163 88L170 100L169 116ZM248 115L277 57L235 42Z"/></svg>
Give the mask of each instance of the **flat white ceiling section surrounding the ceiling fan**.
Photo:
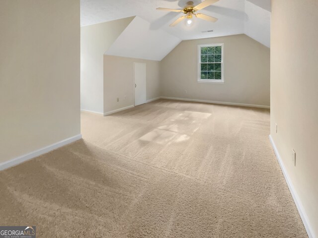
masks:
<svg viewBox="0 0 318 238"><path fill-rule="evenodd" d="M183 13L156 10L157 7L182 9L188 0L81 0L81 25L139 16L150 23L151 30L164 30L181 40L227 36L244 33L245 0L220 0L201 10L219 18L216 23L194 19L191 27L185 21L175 27L169 25ZM193 0L199 4L202 0ZM202 33L202 31L214 30Z"/></svg>

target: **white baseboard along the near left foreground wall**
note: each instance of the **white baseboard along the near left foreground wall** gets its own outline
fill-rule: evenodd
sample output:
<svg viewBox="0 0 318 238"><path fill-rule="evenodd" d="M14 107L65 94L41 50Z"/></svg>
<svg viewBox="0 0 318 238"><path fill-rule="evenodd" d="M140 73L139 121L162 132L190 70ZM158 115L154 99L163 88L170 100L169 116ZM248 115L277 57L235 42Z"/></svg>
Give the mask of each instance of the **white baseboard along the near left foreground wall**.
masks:
<svg viewBox="0 0 318 238"><path fill-rule="evenodd" d="M17 158L12 159L12 160L8 160L8 161L5 161L5 162L2 162L2 163L0 163L0 171L5 170L5 169L10 168L10 167L13 167L13 166L16 166L18 164L21 164L21 163L23 163L25 161L28 161L28 160L33 159L35 157L38 157L40 155L46 154L46 153L48 153L48 152L50 152L52 150L55 150L55 149L57 149L59 147L65 146L67 144L70 144L70 143L72 143L74 141L77 141L79 139L81 139L81 134L73 136L73 137L70 137L70 138L62 140L62 141L59 141L57 143L54 143L54 144L49 145L49 146L46 146L46 147L44 147L42 149L33 151L31 153L19 156Z"/></svg>

